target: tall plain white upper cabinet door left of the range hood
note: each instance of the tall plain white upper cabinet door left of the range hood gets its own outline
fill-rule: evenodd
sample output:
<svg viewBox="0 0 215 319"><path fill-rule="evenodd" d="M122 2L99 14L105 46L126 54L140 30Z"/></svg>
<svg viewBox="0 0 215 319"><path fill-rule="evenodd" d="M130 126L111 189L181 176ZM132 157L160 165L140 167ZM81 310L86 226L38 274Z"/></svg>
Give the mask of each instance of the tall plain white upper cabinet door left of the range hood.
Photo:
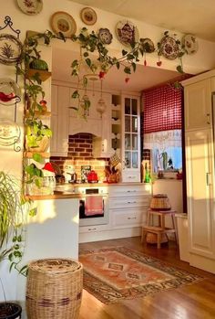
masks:
<svg viewBox="0 0 215 319"><path fill-rule="evenodd" d="M50 153L52 156L67 156L68 105L69 89L53 84L51 106L51 130L53 137L50 144Z"/></svg>

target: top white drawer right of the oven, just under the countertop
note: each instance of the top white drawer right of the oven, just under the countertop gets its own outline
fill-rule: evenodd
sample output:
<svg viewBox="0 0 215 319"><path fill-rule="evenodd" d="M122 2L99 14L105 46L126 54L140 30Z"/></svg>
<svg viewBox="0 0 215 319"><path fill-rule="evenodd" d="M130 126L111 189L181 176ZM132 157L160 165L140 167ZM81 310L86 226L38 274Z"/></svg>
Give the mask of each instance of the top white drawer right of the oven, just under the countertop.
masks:
<svg viewBox="0 0 215 319"><path fill-rule="evenodd" d="M109 186L108 193L109 197L150 197L151 186L149 184L135 186Z"/></svg>

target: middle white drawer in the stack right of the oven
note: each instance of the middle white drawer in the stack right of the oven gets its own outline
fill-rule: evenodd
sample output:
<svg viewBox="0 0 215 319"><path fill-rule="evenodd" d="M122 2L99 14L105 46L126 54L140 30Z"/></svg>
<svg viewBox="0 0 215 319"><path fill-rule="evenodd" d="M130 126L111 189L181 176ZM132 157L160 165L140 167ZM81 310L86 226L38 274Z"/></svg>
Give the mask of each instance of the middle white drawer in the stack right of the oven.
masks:
<svg viewBox="0 0 215 319"><path fill-rule="evenodd" d="M150 197L118 197L109 199L110 208L149 207Z"/></svg>

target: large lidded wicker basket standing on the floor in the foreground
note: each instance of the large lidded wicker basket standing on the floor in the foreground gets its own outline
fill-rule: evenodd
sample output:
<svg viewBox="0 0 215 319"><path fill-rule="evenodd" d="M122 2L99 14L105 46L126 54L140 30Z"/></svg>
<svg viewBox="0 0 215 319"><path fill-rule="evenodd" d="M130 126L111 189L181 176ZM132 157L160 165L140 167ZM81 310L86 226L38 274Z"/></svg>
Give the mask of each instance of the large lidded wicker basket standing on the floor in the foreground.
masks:
<svg viewBox="0 0 215 319"><path fill-rule="evenodd" d="M77 319L83 289L83 267L70 259L29 263L26 282L28 319Z"/></svg>

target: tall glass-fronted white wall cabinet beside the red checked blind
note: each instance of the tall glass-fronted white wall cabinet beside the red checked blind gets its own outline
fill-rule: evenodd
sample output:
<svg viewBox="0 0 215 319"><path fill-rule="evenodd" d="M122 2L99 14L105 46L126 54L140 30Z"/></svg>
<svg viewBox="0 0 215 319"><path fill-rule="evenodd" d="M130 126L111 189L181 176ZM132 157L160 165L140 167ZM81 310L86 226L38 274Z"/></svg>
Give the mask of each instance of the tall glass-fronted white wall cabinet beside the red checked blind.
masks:
<svg viewBox="0 0 215 319"><path fill-rule="evenodd" d="M139 97L122 96L122 182L140 182Z"/></svg>

